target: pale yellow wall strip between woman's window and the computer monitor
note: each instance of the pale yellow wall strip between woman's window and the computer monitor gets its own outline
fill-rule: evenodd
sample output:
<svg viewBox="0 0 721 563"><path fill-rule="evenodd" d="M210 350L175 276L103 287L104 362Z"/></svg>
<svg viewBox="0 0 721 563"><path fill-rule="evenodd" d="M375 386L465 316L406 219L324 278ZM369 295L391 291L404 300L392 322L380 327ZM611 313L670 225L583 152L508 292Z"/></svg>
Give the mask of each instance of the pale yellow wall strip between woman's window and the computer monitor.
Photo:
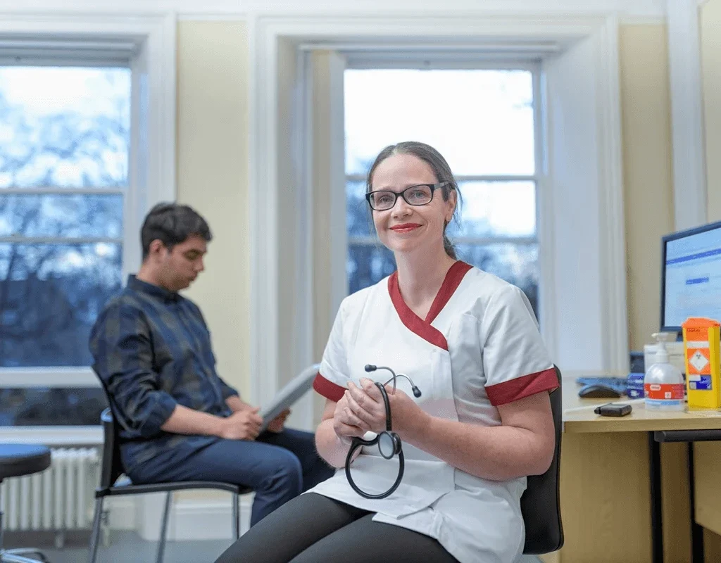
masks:
<svg viewBox="0 0 721 563"><path fill-rule="evenodd" d="M629 337L642 350L659 328L660 239L673 231L666 27L623 25L619 43Z"/></svg>

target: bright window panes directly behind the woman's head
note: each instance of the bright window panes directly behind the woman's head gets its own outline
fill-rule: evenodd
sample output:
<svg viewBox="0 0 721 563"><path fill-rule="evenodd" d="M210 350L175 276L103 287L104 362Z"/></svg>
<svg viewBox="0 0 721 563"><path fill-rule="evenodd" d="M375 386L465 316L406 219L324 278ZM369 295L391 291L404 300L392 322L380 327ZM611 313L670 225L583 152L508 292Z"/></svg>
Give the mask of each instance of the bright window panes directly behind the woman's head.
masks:
<svg viewBox="0 0 721 563"><path fill-rule="evenodd" d="M538 99L534 68L349 68L345 71L348 288L395 270L365 200L366 173L384 146L438 149L463 196L448 235L459 259L518 285L538 315Z"/></svg>

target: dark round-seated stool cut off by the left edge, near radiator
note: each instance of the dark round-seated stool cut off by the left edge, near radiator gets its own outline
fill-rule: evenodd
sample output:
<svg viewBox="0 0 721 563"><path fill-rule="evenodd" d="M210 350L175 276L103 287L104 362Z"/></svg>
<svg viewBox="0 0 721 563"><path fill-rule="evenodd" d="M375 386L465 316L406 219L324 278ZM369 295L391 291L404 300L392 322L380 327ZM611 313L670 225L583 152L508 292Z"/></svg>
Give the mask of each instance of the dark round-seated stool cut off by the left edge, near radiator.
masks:
<svg viewBox="0 0 721 563"><path fill-rule="evenodd" d="M44 445L0 444L0 484L8 477L32 475L50 467L50 448ZM3 521L0 510L0 562L47 562L42 551L32 548L3 549ZM36 557L27 557L34 555Z"/></svg>

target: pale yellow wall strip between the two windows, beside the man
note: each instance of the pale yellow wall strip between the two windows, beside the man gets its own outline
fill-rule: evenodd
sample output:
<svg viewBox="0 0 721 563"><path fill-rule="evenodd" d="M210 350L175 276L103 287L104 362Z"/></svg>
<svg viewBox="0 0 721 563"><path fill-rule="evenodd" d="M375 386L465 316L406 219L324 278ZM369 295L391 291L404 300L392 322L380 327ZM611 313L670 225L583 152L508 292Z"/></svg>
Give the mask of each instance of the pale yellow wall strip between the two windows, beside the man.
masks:
<svg viewBox="0 0 721 563"><path fill-rule="evenodd" d="M187 295L211 329L218 373L247 397L247 25L182 21L177 45L178 199L213 231L205 272Z"/></svg>

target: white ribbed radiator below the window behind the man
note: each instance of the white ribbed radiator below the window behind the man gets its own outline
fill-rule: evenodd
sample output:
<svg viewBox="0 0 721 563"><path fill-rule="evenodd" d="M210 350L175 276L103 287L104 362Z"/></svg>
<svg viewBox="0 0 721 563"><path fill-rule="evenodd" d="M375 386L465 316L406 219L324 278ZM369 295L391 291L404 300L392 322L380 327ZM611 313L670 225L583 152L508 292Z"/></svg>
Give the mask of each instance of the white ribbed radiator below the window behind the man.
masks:
<svg viewBox="0 0 721 563"><path fill-rule="evenodd" d="M42 473L5 479L0 509L7 531L69 531L92 526L99 483L97 448L53 448Z"/></svg>

